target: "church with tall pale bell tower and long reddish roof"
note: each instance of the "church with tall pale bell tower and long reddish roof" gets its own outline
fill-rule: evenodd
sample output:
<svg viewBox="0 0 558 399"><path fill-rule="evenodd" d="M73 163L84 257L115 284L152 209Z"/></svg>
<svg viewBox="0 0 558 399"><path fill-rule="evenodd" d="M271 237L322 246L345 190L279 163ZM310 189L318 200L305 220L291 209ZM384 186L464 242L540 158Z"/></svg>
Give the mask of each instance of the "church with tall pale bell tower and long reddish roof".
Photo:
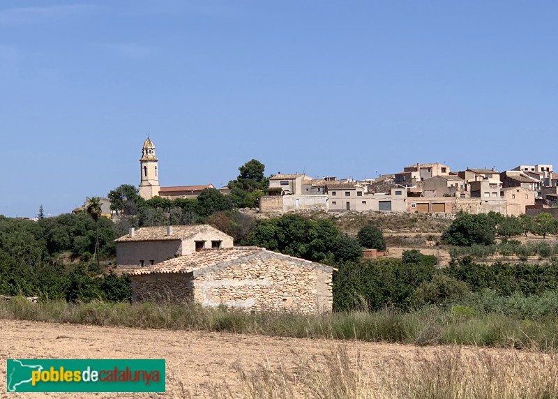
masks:
<svg viewBox="0 0 558 399"><path fill-rule="evenodd" d="M215 188L213 184L203 186L172 186L161 187L158 179L158 162L155 155L155 144L149 137L142 147L142 158L140 158L140 195L144 199L159 196L162 198L196 198L205 188Z"/></svg>

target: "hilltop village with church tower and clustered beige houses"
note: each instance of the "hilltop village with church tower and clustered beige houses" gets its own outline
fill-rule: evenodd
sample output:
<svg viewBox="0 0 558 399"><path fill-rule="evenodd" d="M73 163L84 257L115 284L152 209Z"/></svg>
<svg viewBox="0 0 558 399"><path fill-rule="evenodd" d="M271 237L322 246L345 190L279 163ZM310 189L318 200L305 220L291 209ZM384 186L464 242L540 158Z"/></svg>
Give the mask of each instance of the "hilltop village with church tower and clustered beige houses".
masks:
<svg viewBox="0 0 558 399"><path fill-rule="evenodd" d="M140 159L140 195L144 199L195 198L212 184L162 187L155 144L147 138ZM227 195L229 188L219 188ZM375 179L353 180L306 174L276 174L259 197L260 213L290 211L379 211L418 213L488 213L504 216L540 212L555 206L558 174L552 165L518 165L499 172L469 167L452 171L441 163L416 163L402 172Z"/></svg>

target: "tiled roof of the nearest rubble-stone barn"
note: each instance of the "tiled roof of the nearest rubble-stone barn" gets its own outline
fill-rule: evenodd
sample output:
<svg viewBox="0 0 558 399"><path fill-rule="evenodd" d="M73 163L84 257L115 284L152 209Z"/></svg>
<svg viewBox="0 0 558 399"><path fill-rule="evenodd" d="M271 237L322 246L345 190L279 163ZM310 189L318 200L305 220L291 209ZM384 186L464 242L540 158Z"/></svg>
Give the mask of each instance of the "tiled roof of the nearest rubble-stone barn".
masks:
<svg viewBox="0 0 558 399"><path fill-rule="evenodd" d="M246 257L257 256L266 258L283 258L291 262L296 262L304 266L314 268L334 270L331 266L326 266L316 262L310 262L306 259L292 257L289 255L282 255L275 253L265 248L258 247L233 247L233 248L208 248L196 253L190 253L175 257L173 259L165 260L153 266L144 267L142 269L134 269L130 274L151 274L151 273L191 273L209 267L229 266L234 264L239 259Z"/></svg>

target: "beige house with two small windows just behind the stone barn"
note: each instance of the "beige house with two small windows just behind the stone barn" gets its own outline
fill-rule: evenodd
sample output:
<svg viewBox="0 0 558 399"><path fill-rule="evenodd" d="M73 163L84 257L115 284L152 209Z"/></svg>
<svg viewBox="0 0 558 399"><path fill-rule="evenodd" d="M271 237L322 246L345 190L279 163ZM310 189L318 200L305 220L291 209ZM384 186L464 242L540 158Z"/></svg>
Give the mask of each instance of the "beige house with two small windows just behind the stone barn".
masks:
<svg viewBox="0 0 558 399"><path fill-rule="evenodd" d="M144 267L204 248L231 248L232 236L210 225L141 227L116 242L116 266Z"/></svg>

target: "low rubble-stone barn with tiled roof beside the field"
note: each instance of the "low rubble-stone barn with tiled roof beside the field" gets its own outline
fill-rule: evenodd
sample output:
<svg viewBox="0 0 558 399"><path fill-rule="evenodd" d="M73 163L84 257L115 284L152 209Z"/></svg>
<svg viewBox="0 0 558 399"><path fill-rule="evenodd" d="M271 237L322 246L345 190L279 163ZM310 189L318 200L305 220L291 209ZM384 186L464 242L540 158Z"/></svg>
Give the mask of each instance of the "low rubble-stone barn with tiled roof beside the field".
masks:
<svg viewBox="0 0 558 399"><path fill-rule="evenodd" d="M265 248L207 249L131 271L132 301L322 313L332 308L333 270Z"/></svg>

